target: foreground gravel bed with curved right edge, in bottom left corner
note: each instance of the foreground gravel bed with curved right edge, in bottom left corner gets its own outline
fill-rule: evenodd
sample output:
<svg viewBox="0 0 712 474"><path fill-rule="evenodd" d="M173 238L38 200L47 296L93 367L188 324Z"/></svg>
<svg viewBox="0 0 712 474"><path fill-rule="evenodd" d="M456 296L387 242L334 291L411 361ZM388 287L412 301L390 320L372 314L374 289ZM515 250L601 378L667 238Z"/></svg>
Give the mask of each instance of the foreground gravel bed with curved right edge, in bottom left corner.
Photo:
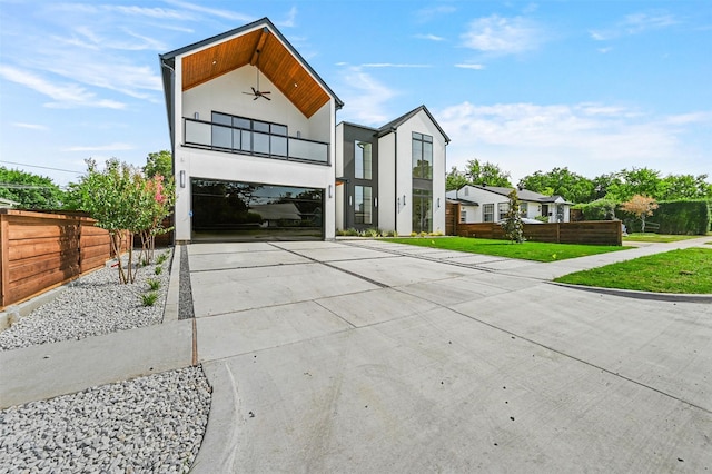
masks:
<svg viewBox="0 0 712 474"><path fill-rule="evenodd" d="M210 411L200 367L0 412L0 474L186 473Z"/></svg>

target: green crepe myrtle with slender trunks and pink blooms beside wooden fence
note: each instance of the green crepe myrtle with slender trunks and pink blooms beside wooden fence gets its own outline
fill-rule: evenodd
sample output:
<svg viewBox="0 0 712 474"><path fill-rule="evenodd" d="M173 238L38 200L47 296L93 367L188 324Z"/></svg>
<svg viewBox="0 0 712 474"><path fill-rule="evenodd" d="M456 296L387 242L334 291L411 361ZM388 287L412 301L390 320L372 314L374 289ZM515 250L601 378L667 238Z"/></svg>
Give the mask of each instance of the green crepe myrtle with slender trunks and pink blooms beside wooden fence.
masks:
<svg viewBox="0 0 712 474"><path fill-rule="evenodd" d="M106 161L103 171L93 159L86 162L87 174L71 185L72 199L97 220L98 227L109 231L115 255L121 255L121 241L126 239L128 266L125 269L117 265L119 282L134 283L134 235L156 235L175 199L172 184L166 185L162 176L146 179L137 168L116 158Z"/></svg>

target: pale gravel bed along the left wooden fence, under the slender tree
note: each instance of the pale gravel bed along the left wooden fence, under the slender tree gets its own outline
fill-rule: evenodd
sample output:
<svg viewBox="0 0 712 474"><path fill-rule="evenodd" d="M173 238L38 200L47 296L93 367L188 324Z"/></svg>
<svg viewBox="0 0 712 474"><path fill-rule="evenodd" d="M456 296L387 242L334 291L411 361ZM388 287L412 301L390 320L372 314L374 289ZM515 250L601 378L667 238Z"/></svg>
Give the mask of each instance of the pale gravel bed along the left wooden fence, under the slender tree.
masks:
<svg viewBox="0 0 712 474"><path fill-rule="evenodd" d="M170 279L170 253L161 265L138 268L136 283L119 284L119 270L105 267L70 283L60 295L0 332L0 349L17 349L37 344L82 339L89 336L158 324ZM126 263L125 263L126 265ZM161 273L156 275L156 267ZM148 280L160 282L154 306L144 306L141 295L149 290Z"/></svg>

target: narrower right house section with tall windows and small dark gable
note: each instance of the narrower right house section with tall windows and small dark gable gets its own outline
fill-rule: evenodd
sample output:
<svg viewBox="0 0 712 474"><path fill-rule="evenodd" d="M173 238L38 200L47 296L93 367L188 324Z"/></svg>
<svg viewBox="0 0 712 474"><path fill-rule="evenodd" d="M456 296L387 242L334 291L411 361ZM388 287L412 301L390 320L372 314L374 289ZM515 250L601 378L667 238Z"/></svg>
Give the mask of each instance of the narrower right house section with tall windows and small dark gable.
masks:
<svg viewBox="0 0 712 474"><path fill-rule="evenodd" d="M336 227L445 233L445 147L425 106L380 128L336 127Z"/></svg>

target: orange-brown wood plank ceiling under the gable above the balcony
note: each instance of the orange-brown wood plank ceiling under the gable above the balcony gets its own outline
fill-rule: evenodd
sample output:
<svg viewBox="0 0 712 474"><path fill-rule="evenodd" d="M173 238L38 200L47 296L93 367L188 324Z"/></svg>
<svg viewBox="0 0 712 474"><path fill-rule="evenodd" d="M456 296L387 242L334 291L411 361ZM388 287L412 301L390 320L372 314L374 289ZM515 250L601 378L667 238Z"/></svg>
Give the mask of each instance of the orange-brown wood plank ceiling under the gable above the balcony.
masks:
<svg viewBox="0 0 712 474"><path fill-rule="evenodd" d="M182 90L247 65L258 67L307 118L329 101L319 82L266 27L186 56Z"/></svg>

